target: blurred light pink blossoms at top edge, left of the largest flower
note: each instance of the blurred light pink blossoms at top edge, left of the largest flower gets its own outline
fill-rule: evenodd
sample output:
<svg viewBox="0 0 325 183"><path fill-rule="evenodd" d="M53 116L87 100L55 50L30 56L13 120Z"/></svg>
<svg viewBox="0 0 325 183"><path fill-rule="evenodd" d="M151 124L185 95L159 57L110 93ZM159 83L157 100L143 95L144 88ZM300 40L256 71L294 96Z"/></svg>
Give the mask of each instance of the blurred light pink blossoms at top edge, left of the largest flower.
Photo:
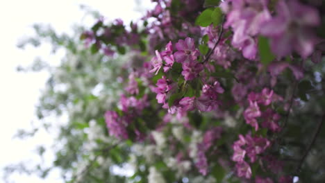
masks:
<svg viewBox="0 0 325 183"><path fill-rule="evenodd" d="M227 13L225 27L233 28L233 46L242 50L244 58L255 59L257 44L254 36L260 32L261 25L271 18L267 1L228 0L222 3L222 10Z"/></svg>

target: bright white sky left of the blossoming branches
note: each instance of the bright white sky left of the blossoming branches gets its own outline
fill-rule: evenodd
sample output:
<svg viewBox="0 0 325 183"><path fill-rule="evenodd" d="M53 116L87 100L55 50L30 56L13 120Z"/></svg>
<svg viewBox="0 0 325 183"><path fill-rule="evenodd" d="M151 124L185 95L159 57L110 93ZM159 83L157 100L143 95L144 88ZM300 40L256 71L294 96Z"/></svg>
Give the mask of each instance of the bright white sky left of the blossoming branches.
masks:
<svg viewBox="0 0 325 183"><path fill-rule="evenodd" d="M150 5L150 0L140 0L144 6ZM18 65L27 66L33 59L40 56L51 63L60 62L63 54L51 55L50 46L44 45L34 49L17 49L20 38L33 35L31 25L34 23L51 24L59 33L71 33L74 23L88 24L82 21L84 12L79 4L85 4L94 10L99 10L104 17L124 19L139 19L144 12L135 12L134 0L0 0L0 168L6 164L31 160L35 155L37 144L52 143L51 134L41 132L37 137L20 141L12 139L19 128L30 128L31 121L35 121L35 103L38 102L40 89L44 87L47 73L17 73ZM35 121L37 123L37 121ZM47 155L51 160L53 155ZM2 171L0 170L0 179ZM61 182L58 174L53 173L47 180L36 176L15 175L14 182ZM2 179L0 180L2 182Z"/></svg>

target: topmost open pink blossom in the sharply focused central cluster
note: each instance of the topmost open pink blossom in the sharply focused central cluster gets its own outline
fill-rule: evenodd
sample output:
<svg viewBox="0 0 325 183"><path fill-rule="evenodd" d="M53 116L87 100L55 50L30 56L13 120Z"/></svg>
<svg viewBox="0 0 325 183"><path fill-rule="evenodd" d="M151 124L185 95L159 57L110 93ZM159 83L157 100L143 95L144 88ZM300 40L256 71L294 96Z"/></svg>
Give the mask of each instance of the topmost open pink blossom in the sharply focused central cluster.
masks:
<svg viewBox="0 0 325 183"><path fill-rule="evenodd" d="M190 37L186 37L185 41L178 40L176 49L178 51L174 53L174 58L179 63L190 62L199 56L199 51L195 49L194 40Z"/></svg>

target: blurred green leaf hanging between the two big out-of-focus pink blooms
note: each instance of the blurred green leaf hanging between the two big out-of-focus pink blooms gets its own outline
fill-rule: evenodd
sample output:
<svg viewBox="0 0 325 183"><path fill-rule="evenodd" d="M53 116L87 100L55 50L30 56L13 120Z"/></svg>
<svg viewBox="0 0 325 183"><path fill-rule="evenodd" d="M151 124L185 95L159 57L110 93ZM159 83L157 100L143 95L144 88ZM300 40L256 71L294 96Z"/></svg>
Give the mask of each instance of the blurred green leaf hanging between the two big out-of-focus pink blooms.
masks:
<svg viewBox="0 0 325 183"><path fill-rule="evenodd" d="M258 53L260 53L260 62L265 67L274 60L275 56L271 52L269 40L266 37L258 37Z"/></svg>

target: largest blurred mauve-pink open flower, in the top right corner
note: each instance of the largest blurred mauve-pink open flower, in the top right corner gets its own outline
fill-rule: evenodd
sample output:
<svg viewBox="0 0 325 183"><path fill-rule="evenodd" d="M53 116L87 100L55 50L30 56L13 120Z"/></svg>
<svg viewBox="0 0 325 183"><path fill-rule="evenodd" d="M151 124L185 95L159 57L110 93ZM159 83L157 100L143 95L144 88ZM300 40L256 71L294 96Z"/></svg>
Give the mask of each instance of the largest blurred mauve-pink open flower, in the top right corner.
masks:
<svg viewBox="0 0 325 183"><path fill-rule="evenodd" d="M313 27L320 24L317 10L297 0L278 1L276 10L277 16L261 26L261 33L271 38L272 51L278 57L292 51L308 57L316 44Z"/></svg>

